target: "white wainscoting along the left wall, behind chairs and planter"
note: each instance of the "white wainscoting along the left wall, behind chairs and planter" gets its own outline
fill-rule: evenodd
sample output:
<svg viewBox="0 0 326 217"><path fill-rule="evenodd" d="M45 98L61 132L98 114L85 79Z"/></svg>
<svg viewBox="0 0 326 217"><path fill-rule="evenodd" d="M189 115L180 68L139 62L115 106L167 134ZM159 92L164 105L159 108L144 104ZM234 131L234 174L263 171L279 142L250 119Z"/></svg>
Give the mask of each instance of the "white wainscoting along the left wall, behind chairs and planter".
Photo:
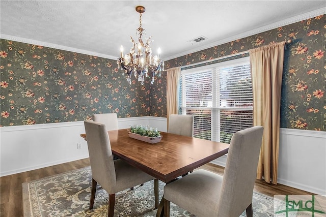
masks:
<svg viewBox="0 0 326 217"><path fill-rule="evenodd" d="M167 119L162 117L118 118L118 125L119 129L149 125L167 132ZM88 158L83 133L83 121L0 128L0 176Z"/></svg>

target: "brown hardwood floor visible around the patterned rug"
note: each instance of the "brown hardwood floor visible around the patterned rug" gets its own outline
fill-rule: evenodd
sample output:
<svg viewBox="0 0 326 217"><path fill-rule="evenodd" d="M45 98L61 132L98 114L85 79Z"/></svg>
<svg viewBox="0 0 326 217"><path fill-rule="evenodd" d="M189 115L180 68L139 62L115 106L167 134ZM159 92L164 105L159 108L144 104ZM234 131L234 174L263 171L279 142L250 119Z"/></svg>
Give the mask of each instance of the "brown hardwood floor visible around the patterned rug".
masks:
<svg viewBox="0 0 326 217"><path fill-rule="evenodd" d="M1 216L19 217L23 216L21 184L26 181L44 178L63 172L87 167L90 165L89 159L82 159L65 164L41 168L14 175L0 177L1 182ZM218 174L223 174L224 167L214 164L206 164L202 167ZM288 187L283 184L268 184L262 180L256 180L254 191L273 197L274 195L311 195L309 192Z"/></svg>

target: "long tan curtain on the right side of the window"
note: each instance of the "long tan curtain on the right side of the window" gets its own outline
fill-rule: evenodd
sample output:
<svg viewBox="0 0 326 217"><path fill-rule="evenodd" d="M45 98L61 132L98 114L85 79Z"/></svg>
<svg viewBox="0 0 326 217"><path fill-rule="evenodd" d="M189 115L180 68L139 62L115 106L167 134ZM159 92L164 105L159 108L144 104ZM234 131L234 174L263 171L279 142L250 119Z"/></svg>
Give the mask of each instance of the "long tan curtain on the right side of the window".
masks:
<svg viewBox="0 0 326 217"><path fill-rule="evenodd" d="M279 159L281 85L285 42L250 49L253 83L254 126L264 134L257 168L257 179L277 184Z"/></svg>

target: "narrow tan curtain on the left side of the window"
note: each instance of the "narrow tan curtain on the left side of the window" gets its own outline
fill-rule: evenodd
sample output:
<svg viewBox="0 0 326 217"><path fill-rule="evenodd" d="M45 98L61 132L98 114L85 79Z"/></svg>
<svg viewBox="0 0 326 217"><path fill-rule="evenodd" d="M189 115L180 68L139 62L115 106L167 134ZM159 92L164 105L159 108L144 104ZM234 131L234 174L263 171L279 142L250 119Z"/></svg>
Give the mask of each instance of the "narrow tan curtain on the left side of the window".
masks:
<svg viewBox="0 0 326 217"><path fill-rule="evenodd" d="M169 126L170 114L179 113L179 82L181 68L176 67L167 71L167 119Z"/></svg>

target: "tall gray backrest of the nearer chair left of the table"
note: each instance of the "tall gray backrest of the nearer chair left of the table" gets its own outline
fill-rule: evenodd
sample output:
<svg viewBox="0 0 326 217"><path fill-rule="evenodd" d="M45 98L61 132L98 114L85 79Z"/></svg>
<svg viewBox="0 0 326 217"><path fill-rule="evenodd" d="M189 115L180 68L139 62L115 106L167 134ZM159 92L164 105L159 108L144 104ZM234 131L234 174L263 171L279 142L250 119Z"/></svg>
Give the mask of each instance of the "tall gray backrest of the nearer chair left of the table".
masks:
<svg viewBox="0 0 326 217"><path fill-rule="evenodd" d="M116 171L110 140L103 123L84 121L92 177L107 192L116 190Z"/></svg>

